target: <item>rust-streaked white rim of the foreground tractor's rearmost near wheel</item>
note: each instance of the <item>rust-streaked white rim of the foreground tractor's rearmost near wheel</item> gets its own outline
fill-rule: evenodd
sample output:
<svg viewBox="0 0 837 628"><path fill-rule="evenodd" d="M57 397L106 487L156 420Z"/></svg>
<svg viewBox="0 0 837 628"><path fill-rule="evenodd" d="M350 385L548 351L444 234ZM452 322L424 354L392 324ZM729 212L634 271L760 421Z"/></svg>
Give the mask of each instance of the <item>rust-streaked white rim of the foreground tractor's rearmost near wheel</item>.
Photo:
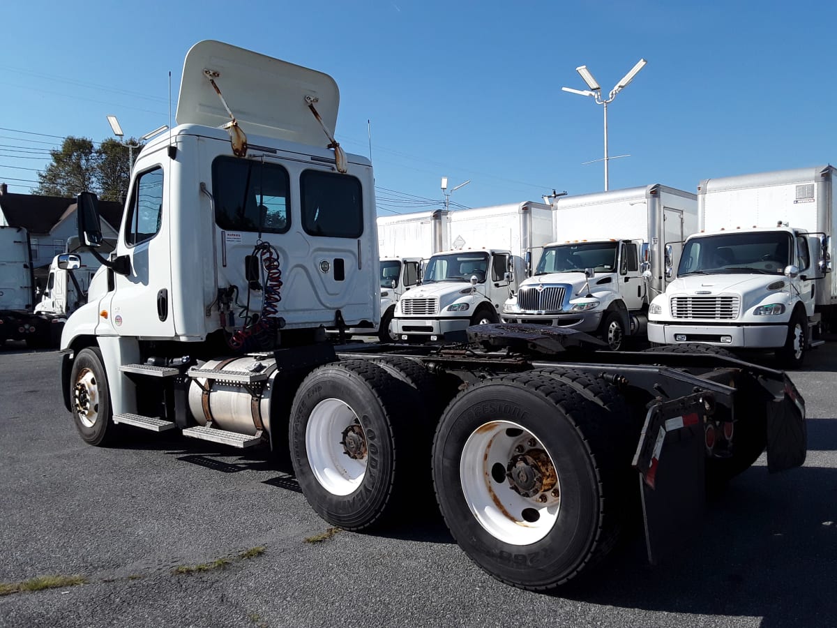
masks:
<svg viewBox="0 0 837 628"><path fill-rule="evenodd" d="M534 445L531 443L534 442ZM524 497L504 476L516 454L531 450L546 452L555 485L545 493ZM492 474L492 471L494 473ZM511 421L480 425L465 441L460 458L460 482L465 502L480 526L491 536L510 545L537 543L552 530L561 509L560 481L552 456L536 435ZM541 501L545 500L545 501Z"/></svg>

